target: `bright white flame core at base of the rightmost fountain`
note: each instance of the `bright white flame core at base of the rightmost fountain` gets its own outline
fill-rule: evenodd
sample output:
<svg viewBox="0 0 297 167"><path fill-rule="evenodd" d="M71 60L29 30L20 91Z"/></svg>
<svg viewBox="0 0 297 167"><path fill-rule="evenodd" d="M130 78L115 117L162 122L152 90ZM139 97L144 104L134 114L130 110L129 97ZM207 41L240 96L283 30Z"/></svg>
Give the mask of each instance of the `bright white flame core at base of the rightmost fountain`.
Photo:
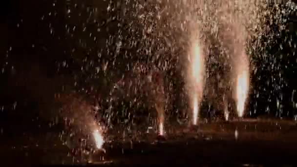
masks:
<svg viewBox="0 0 297 167"><path fill-rule="evenodd" d="M236 81L236 101L237 101L237 114L238 117L243 116L245 102L248 97L249 91L249 70L247 63L243 63L246 68L238 70Z"/></svg>

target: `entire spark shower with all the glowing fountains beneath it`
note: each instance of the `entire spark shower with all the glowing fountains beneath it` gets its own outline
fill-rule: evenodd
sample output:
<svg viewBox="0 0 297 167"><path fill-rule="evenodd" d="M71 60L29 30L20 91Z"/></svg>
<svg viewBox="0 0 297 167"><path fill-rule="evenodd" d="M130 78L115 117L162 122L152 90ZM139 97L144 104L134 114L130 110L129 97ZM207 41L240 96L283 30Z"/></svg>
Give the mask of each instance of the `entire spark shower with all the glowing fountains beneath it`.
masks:
<svg viewBox="0 0 297 167"><path fill-rule="evenodd" d="M59 45L66 43L63 45L63 52L57 55L67 56L61 58L63 59L61 62L56 62L59 75L61 72L61 77L67 79L63 85L63 91L66 92L65 94L75 92L73 94L78 96L84 94L92 99L100 99L98 103L102 106L91 109L89 106L92 104L86 102L85 96L73 101L69 100L72 97L65 98L61 101L64 105L62 111L67 112L59 112L58 114L61 115L55 115L55 119L71 117L64 120L65 126L77 124L70 128L80 131L78 134L90 134L92 143L94 142L92 146L97 150L104 150L107 139L101 125L94 123L95 116L92 112L100 113L96 118L101 120L96 121L104 122L108 129L112 129L114 124L121 124L120 128L122 128L123 123L125 130L130 131L135 125L133 121L138 119L137 112L143 111L141 114L147 114L146 111L150 112L153 108L156 116L151 116L153 114L149 113L151 115L148 114L147 122L139 121L140 118L137 121L141 124L144 122L149 124L149 129L155 129L155 133L160 136L170 134L170 128L167 129L169 125L166 122L167 116L171 116L171 113L176 111L178 116L185 117L182 110L188 109L187 107L190 108L189 122L191 125L198 125L199 114L204 112L202 110L204 108L201 107L204 97L207 97L209 108L213 107L215 112L222 111L226 121L232 121L233 110L239 118L258 116L257 112L264 111L267 114L274 112L274 115L279 118L293 117L297 121L297 88L291 79L291 76L296 74L297 61L294 56L297 42L294 38L297 34L288 35L285 34L288 31L285 33L282 31L286 28L284 25L287 24L288 13L296 15L297 6L290 4L291 2L271 5L267 1L93 0L88 2L93 3L89 5L86 2L66 0L67 9L61 15L59 12L61 10L57 6L62 3L64 5L64 2L55 0L51 11L42 15L40 21L44 23L41 27L48 27L49 29L46 29L48 35L57 40ZM106 12L104 14L106 16L101 16L103 12ZM61 16L62 19L57 19ZM47 22L48 20L52 22ZM63 26L57 24L59 20L65 21L65 24ZM24 19L24 22L21 20L17 27L27 24L28 22ZM285 34L284 38L281 36L282 33ZM281 42L275 38L281 39L279 40ZM46 36L46 39L49 38ZM32 49L45 52L52 48L52 45L47 46L42 43L33 43ZM37 49L38 44L41 47L39 49ZM6 59L15 48L18 47L9 47L1 73L22 69L14 66L11 69L8 68L10 62ZM54 53L56 52L59 52L59 49ZM148 73L153 73L155 69L167 75L162 76L166 78L165 82L152 81L153 77ZM185 75L183 70L186 71ZM69 71L75 75L68 75ZM142 75L148 76L149 82L144 80L144 77L141 78ZM291 78L287 75L291 75ZM60 80L59 77L57 80ZM123 81L122 85L110 86L119 83L117 82L119 79ZM184 82L180 82L183 79L186 86L179 89L178 86L184 86ZM48 80L50 79L46 78L45 81ZM69 84L69 81L73 83ZM148 84L150 87L143 87ZM177 85L178 88L172 85ZM171 91L170 86L175 88L172 88L174 91ZM162 91L159 93L151 93L155 91L152 89L161 89L161 87ZM215 90L217 87L220 87L220 91ZM69 89L71 91L68 91ZM62 94L59 94L59 98L60 95L63 96ZM72 96L72 93L69 94ZM100 98L93 96L94 94L100 94L98 95ZM176 95L177 100L168 94ZM228 97L225 98L225 96ZM120 99L121 97L124 98ZM220 101L221 97L224 97L224 100ZM178 101L172 100L174 102L171 103L180 103L174 106L178 108L175 111L173 107L168 107L173 106L168 102L170 98ZM35 99L32 102L35 102ZM235 102L234 106L233 102ZM215 106L220 104L223 106ZM13 109L16 105L17 102L13 104ZM117 108L118 105L120 105L119 108ZM252 109L248 110L248 105ZM3 107L0 107L2 112ZM213 112L210 110L212 109L207 112ZM287 112L284 113L284 110ZM169 112L170 114L167 115ZM55 123L58 124L58 119ZM1 133L3 133L2 129ZM81 138L80 134L77 136ZM238 140L237 128L234 137Z"/></svg>

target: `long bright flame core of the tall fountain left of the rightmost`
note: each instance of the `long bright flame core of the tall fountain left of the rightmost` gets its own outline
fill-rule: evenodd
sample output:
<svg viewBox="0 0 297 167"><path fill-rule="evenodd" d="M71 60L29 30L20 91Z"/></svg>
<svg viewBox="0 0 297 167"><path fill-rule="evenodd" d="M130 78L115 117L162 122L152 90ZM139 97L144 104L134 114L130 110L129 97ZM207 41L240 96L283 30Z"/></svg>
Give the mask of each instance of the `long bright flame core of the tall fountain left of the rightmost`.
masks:
<svg viewBox="0 0 297 167"><path fill-rule="evenodd" d="M192 124L197 125L198 114L199 114L199 99L202 95L202 86L203 86L203 55L201 54L200 46L198 42L194 42L193 45L193 59L191 62L191 82L193 86L193 90L191 90L192 94Z"/></svg>

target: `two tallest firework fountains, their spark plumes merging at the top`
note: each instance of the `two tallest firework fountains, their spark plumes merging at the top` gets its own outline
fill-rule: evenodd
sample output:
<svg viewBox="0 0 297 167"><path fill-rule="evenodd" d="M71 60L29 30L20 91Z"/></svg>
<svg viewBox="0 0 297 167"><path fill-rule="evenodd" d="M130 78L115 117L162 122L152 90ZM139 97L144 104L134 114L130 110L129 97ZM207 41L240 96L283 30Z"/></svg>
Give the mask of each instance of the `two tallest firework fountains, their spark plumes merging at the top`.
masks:
<svg viewBox="0 0 297 167"><path fill-rule="evenodd" d="M224 2L224 0L221 2ZM215 35L215 40L222 46L220 49L228 50L226 53L222 52L223 56L221 56L220 59L231 58L227 62L229 63L228 65L232 66L229 75L232 76L230 81L233 81L233 99L236 103L237 116L243 117L250 86L250 60L245 50L246 42L249 40L248 34L251 32L248 32L245 26L254 26L251 20L256 20L258 16L255 14L255 11L260 9L256 4L251 3L251 1L245 2L242 0L234 1L234 3L226 2L213 4L209 4L207 1L195 1L193 4L186 6L187 8L192 8L191 6L204 6L204 8L198 7L198 9L200 9L199 12L190 14L191 19L198 20L193 21L193 24L191 24L193 26L190 28L192 33L190 34L190 48L188 50L189 63L186 65L188 68L187 82L192 124L197 124L199 106L203 97L203 87L205 85L208 86L208 84L205 83L207 77L205 74L205 59L210 59L210 57L207 57L204 52L210 43L207 42L208 35L206 34ZM246 18L247 15L242 12L242 9L247 9L248 13L246 14L248 15L248 19ZM213 10L219 15L212 16ZM211 20L215 21L210 22ZM213 27L211 30L213 32L209 32L210 27L204 27L205 24ZM202 39L200 35L206 37ZM224 66L226 64L220 65ZM224 105L226 105L224 108L227 108L228 102ZM229 117L229 111L227 117Z"/></svg>

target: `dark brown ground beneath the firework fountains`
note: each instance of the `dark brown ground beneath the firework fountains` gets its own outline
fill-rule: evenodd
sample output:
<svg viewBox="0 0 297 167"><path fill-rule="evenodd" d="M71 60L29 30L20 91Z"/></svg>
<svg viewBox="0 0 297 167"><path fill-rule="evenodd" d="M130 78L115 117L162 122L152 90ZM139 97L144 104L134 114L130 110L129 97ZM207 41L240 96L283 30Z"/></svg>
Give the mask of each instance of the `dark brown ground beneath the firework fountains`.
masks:
<svg viewBox="0 0 297 167"><path fill-rule="evenodd" d="M95 158L92 165L297 165L294 121L200 122L190 127L167 125L166 132L166 141L157 141L153 131L130 135L110 131L104 145L106 164ZM1 148L2 163L7 165L78 164L54 133L6 140Z"/></svg>

